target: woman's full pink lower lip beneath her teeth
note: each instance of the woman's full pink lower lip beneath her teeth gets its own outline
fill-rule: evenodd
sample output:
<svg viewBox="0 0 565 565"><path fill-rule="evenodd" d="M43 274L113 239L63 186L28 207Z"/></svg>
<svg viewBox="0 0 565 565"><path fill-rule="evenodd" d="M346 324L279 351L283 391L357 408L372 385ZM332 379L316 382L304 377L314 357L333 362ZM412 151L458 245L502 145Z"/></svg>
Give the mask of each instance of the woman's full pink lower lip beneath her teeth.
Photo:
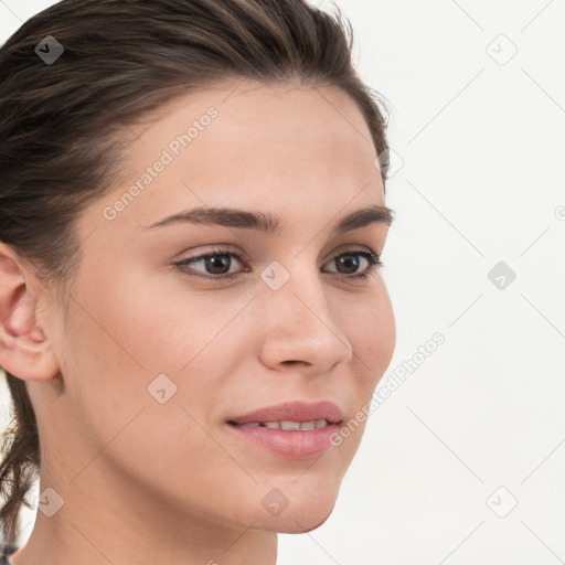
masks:
<svg viewBox="0 0 565 565"><path fill-rule="evenodd" d="M287 459L308 459L333 447L331 437L339 430L338 424L318 429L277 429L242 427L226 424L232 433Z"/></svg>

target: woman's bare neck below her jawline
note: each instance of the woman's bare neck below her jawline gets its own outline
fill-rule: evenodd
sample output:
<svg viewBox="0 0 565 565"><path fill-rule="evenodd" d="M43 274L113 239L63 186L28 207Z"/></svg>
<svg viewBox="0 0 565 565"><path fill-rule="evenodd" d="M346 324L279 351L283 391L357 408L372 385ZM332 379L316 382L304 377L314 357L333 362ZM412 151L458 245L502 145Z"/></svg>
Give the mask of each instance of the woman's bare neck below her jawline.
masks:
<svg viewBox="0 0 565 565"><path fill-rule="evenodd" d="M28 543L11 556L13 565L275 565L277 535L235 523L223 523L206 509L188 513L154 500L139 486L108 484L103 473L88 481L52 480L41 476L38 518ZM66 488L65 488L66 486ZM64 503L55 508L56 495Z"/></svg>

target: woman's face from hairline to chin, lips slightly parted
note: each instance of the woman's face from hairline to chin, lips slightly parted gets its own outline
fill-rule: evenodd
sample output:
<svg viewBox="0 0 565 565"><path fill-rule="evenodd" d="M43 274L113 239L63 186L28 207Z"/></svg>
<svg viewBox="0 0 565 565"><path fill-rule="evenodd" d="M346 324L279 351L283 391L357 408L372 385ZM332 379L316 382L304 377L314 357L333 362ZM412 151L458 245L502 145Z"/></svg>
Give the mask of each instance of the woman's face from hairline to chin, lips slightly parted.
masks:
<svg viewBox="0 0 565 565"><path fill-rule="evenodd" d="M154 116L129 129L127 174L77 224L66 318L46 331L63 384L28 383L42 481L121 512L135 501L128 512L311 530L335 503L394 349L382 271L366 259L383 252L386 214L335 232L384 206L369 128L339 89L252 83ZM246 215L166 221L217 209ZM333 403L333 431L358 425L329 441L323 428L230 424L295 402ZM332 418L313 406L257 419Z"/></svg>

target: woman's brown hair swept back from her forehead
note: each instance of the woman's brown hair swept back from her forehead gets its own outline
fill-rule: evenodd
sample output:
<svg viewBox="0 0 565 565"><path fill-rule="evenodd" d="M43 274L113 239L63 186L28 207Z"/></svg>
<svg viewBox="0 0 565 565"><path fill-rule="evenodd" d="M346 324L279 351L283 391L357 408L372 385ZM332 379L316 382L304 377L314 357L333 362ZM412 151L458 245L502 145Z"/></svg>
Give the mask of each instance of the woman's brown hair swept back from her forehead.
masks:
<svg viewBox="0 0 565 565"><path fill-rule="evenodd" d="M306 0L63 0L31 18L0 49L0 241L64 302L81 258L76 220L113 188L120 134L163 103L227 79L342 88L367 122L385 182L379 104L386 107L359 77L351 24L334 8L331 15ZM47 36L64 49L51 64L41 56L56 54ZM4 544L15 544L40 445L25 382L9 373L7 382L13 415L0 521Z"/></svg>

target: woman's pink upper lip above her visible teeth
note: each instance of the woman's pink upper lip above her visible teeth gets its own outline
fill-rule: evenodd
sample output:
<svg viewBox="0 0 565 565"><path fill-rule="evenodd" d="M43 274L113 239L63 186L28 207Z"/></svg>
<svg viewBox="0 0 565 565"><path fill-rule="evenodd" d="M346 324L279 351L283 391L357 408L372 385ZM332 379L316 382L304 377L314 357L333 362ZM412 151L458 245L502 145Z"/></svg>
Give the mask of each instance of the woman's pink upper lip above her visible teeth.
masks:
<svg viewBox="0 0 565 565"><path fill-rule="evenodd" d="M331 424L341 422L343 415L332 402L285 402L275 406L267 406L243 416L230 418L232 424L247 424L249 422L311 422L326 419Z"/></svg>

